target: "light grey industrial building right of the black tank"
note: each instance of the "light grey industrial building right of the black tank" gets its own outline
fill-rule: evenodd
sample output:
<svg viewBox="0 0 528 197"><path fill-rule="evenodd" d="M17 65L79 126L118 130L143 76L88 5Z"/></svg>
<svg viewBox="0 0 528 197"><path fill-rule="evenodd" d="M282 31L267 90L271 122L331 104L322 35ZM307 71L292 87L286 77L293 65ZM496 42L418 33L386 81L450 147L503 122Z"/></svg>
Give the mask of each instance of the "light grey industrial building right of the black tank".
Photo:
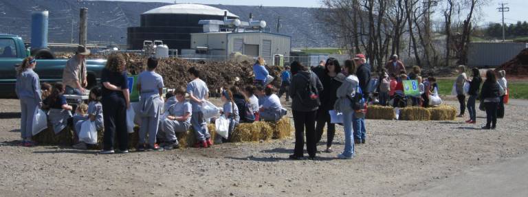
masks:
<svg viewBox="0 0 528 197"><path fill-rule="evenodd" d="M190 48L208 56L230 56L236 52L273 62L276 55L289 56L291 37L269 32L207 32L190 34Z"/></svg>

